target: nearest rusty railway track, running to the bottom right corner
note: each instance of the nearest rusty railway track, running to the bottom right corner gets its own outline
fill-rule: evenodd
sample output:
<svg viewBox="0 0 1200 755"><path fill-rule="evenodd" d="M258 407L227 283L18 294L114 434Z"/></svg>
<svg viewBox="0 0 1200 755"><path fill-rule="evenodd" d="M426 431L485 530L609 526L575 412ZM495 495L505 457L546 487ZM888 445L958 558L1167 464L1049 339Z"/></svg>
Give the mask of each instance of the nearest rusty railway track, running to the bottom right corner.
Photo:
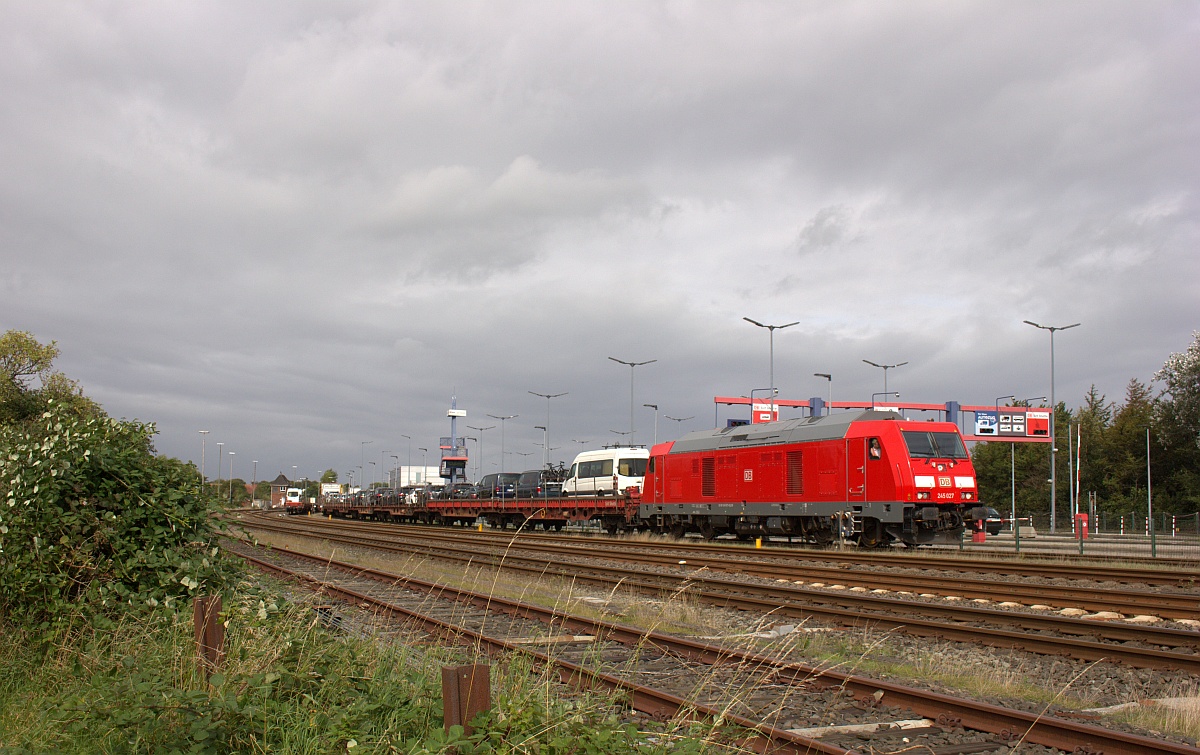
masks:
<svg viewBox="0 0 1200 755"><path fill-rule="evenodd" d="M419 622L427 631L488 652L528 653L557 667L564 681L611 689L644 713L743 726L755 732L757 742L750 747L756 751L965 755L1038 744L1106 755L1200 753L1045 712L961 700L329 558L266 549L256 553L246 544L233 550L356 610ZM564 631L571 634L560 641Z"/></svg>

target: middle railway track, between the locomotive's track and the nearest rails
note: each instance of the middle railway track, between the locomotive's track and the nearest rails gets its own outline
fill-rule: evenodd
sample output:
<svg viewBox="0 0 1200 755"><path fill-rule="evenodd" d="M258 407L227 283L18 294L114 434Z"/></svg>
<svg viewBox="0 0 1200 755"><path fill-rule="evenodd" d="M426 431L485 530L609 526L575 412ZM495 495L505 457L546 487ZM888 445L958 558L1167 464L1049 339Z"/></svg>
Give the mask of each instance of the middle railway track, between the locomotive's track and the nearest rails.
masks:
<svg viewBox="0 0 1200 755"><path fill-rule="evenodd" d="M848 627L872 627L956 642L1008 647L1088 661L1116 661L1134 667L1178 670L1200 676L1200 633L1190 629L1142 627L1123 622L1080 619L1057 615L997 610L976 605L946 605L870 593L830 592L776 581L756 583L674 564L647 571L589 559L564 563L560 553L527 555L516 547L488 549L478 540L451 543L396 541L378 531L364 535L300 522L260 520L254 526L283 534L316 537L344 546L490 565L523 571L539 579L560 577L619 587L648 594L686 593L716 606L797 618L817 617ZM511 545L511 544L510 544ZM578 553L577 553L578 555ZM1170 648L1170 649L1165 649Z"/></svg>

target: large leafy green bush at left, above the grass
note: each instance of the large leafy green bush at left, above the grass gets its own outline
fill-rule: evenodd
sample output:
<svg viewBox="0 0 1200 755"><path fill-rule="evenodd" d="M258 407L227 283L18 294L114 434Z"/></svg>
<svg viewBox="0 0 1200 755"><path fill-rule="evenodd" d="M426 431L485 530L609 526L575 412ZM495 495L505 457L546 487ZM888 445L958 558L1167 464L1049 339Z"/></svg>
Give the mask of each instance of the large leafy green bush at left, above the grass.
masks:
<svg viewBox="0 0 1200 755"><path fill-rule="evenodd" d="M0 426L0 612L35 640L220 591L235 573L218 503L192 465L154 453L154 433L54 400Z"/></svg>

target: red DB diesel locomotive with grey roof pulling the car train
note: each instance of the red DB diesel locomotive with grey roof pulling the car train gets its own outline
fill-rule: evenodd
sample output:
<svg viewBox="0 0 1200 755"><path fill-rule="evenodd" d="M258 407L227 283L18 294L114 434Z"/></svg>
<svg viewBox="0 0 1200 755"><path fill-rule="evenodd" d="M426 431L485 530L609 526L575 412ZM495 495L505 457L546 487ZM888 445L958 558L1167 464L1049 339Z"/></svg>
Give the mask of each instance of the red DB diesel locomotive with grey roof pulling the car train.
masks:
<svg viewBox="0 0 1200 755"><path fill-rule="evenodd" d="M692 432L650 451L637 517L682 537L788 535L868 547L958 541L982 520L953 423L846 412Z"/></svg>

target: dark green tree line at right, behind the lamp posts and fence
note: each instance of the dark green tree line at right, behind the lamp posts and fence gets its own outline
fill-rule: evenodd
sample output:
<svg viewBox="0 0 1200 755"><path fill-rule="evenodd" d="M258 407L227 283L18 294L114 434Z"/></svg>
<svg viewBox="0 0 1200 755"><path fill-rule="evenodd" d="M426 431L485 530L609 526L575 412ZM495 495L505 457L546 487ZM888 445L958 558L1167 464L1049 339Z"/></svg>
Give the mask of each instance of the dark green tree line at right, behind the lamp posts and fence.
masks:
<svg viewBox="0 0 1200 755"><path fill-rule="evenodd" d="M1151 384L1130 379L1122 401L1092 385L1081 406L1058 402L1054 412L1058 523L1069 522L1073 459L1079 460L1081 510L1094 493L1097 511L1110 521L1144 517L1147 481L1156 513L1200 510L1200 331L1186 350L1166 359ZM972 459L984 503L1008 511L1015 497L1018 516L1048 516L1049 444L979 443Z"/></svg>

